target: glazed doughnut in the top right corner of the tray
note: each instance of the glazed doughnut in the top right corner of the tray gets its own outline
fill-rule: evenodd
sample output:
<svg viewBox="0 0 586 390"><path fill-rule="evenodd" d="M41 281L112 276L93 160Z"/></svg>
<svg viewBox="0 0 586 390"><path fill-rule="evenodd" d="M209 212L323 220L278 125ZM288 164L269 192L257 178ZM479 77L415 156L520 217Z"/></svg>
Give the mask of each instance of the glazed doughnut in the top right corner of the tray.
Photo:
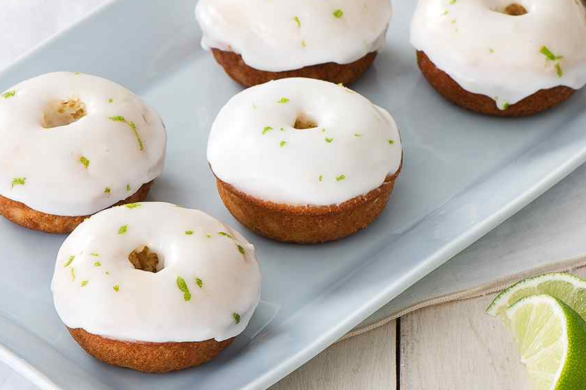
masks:
<svg viewBox="0 0 586 390"><path fill-rule="evenodd" d="M448 101L522 117L586 84L586 8L576 0L419 0L417 64Z"/></svg>

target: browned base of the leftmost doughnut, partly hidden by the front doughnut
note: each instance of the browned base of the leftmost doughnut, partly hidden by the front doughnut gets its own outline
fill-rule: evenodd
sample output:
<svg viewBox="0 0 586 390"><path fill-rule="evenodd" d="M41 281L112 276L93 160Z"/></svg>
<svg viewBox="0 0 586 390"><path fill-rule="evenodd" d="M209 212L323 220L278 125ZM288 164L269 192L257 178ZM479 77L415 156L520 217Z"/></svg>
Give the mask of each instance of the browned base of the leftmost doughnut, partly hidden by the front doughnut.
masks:
<svg viewBox="0 0 586 390"><path fill-rule="evenodd" d="M129 204L135 202L142 202L149 195L153 181L143 184L138 191L126 199L113 204L113 206L121 206L122 204ZM0 215L5 217L10 222L17 225L29 228L34 231L42 231L53 234L67 234L71 233L77 225L84 222L89 215L79 217L68 217L63 215L52 215L41 213L33 210L21 202L16 202L7 197L0 195Z"/></svg>

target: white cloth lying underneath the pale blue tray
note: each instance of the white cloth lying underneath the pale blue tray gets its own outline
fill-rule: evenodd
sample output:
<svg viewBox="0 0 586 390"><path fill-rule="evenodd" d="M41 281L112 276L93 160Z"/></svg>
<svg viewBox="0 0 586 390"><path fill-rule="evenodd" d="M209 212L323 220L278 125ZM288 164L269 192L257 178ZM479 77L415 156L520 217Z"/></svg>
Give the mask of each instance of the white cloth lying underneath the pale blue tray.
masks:
<svg viewBox="0 0 586 390"><path fill-rule="evenodd" d="M0 70L111 0L0 0ZM586 167L431 273L357 328L419 302L586 253ZM560 264L567 266L567 264ZM0 390L37 390L0 362Z"/></svg>

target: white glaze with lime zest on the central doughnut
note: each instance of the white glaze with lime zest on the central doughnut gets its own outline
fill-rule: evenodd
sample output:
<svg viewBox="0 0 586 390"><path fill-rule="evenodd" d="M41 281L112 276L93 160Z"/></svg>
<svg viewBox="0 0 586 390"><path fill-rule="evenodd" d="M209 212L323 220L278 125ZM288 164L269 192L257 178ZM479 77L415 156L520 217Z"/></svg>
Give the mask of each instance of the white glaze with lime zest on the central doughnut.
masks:
<svg viewBox="0 0 586 390"><path fill-rule="evenodd" d="M282 98L289 100L278 103ZM301 114L318 127L293 128ZM272 130L263 135L265 127ZM343 86L301 78L233 97L216 117L207 147L218 178L292 205L339 204L366 194L399 169L401 157L399 130L385 110Z"/></svg>

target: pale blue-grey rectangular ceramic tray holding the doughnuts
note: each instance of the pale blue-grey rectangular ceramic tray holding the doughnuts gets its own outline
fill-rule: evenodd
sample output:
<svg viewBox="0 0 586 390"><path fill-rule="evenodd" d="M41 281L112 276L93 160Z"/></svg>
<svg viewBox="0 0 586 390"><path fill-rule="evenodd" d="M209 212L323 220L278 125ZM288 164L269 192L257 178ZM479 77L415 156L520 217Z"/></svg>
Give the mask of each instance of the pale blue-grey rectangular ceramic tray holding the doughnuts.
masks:
<svg viewBox="0 0 586 390"><path fill-rule="evenodd" d="M379 220L318 246L277 244L240 226L261 261L258 311L216 360L162 376L110 367L79 349L50 293L64 237L0 220L0 358L43 389L265 389L585 161L584 92L529 119L455 108L415 65L408 41L415 0L394 3L386 50L352 86L401 128L404 169ZM167 167L150 199L237 226L216 193L205 150L214 117L240 87L200 49L195 4L108 3L3 70L0 90L55 70L134 90L158 110L169 136Z"/></svg>

